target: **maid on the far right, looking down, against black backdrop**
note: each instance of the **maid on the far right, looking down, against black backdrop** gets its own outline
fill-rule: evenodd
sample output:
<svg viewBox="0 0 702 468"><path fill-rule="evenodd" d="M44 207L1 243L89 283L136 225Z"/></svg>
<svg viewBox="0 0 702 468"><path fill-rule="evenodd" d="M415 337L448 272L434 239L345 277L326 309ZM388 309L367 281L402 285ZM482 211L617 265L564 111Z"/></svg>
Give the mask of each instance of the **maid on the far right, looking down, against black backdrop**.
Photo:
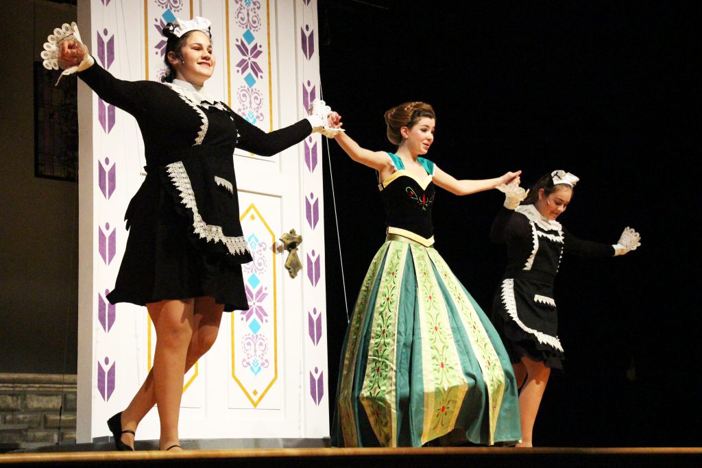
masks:
<svg viewBox="0 0 702 468"><path fill-rule="evenodd" d="M550 370L563 368L553 299L561 256L624 255L641 245L640 235L629 227L612 245L578 239L556 221L568 207L578 180L571 173L553 171L526 192L517 185L498 187L505 192L505 203L490 238L506 244L507 266L494 298L492 320L510 354L520 389L522 441L517 446L533 446L536 413Z"/></svg>

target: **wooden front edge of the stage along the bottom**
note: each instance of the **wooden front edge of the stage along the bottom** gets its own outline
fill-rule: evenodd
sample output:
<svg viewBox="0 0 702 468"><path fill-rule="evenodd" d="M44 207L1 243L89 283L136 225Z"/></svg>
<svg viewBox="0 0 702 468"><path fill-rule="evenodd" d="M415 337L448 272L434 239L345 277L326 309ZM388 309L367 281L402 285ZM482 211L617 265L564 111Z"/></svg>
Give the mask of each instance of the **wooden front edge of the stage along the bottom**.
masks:
<svg viewBox="0 0 702 468"><path fill-rule="evenodd" d="M159 452L6 453L16 466L702 467L702 448L245 448Z"/></svg>

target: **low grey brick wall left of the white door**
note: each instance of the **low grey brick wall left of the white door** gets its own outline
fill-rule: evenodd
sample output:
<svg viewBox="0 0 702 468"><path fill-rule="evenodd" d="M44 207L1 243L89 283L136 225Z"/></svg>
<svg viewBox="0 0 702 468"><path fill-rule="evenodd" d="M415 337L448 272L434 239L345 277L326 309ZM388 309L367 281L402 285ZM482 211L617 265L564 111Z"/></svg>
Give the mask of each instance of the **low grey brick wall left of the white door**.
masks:
<svg viewBox="0 0 702 468"><path fill-rule="evenodd" d="M0 452L75 443L76 382L76 375L0 373Z"/></svg>

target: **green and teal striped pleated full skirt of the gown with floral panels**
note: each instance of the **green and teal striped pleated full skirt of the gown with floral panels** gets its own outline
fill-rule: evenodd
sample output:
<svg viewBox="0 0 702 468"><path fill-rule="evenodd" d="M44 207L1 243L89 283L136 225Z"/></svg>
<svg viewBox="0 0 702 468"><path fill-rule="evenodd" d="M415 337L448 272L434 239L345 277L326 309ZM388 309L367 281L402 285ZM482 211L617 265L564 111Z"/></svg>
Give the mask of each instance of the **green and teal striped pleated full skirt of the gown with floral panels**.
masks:
<svg viewBox="0 0 702 468"><path fill-rule="evenodd" d="M386 241L347 328L338 447L512 444L515 377L501 339L434 248Z"/></svg>

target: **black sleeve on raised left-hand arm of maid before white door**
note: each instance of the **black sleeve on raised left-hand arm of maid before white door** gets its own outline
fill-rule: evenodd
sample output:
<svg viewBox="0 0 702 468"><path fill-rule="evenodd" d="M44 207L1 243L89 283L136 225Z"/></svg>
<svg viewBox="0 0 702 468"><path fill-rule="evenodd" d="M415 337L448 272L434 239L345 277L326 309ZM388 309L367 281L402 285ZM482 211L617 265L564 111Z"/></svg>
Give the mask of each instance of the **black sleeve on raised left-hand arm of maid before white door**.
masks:
<svg viewBox="0 0 702 468"><path fill-rule="evenodd" d="M105 102L138 116L147 112L147 103L150 102L150 87L160 86L154 81L125 81L117 79L106 69L98 65L98 61L78 73L78 77L85 81L95 93Z"/></svg>

